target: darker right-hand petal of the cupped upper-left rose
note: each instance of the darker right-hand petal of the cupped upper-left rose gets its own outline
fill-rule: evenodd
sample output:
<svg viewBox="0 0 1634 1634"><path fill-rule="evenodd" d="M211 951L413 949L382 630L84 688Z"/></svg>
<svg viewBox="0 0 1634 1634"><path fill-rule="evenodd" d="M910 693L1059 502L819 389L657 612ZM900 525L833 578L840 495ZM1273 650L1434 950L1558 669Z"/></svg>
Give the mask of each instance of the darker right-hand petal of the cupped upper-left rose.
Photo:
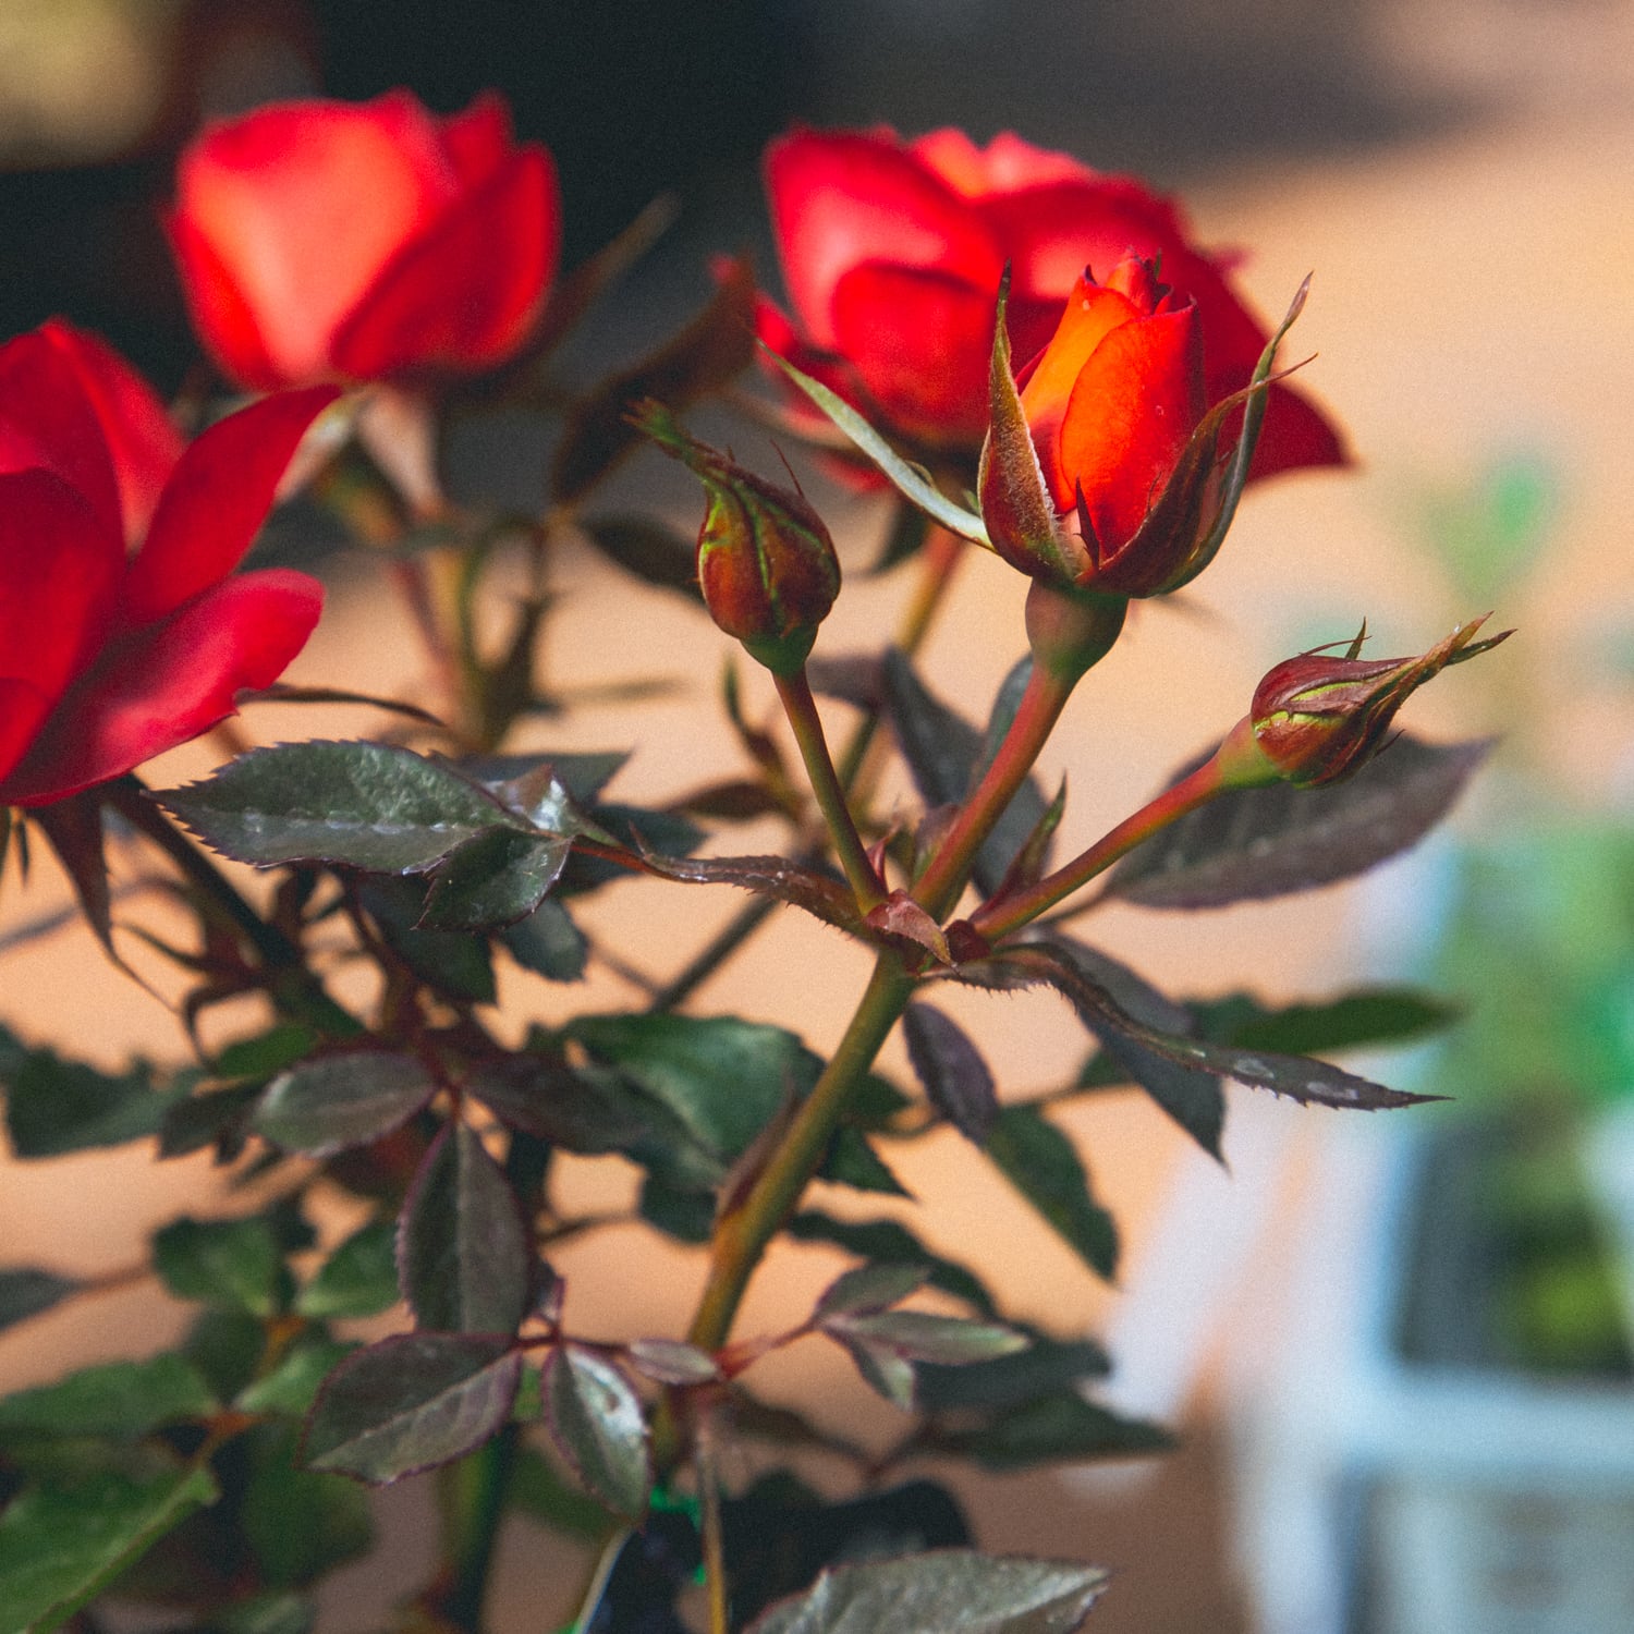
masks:
<svg viewBox="0 0 1634 1634"><path fill-rule="evenodd" d="M556 167L529 144L387 263L335 333L335 366L381 379L498 363L536 324L559 242Z"/></svg>

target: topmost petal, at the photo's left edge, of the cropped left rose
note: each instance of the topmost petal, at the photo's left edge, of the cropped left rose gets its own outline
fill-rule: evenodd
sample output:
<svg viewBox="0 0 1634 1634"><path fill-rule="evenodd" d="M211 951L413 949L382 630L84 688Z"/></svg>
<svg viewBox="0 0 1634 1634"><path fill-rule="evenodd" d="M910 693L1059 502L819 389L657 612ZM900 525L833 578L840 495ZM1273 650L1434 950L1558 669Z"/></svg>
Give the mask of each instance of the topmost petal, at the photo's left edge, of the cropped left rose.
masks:
<svg viewBox="0 0 1634 1634"><path fill-rule="evenodd" d="M0 472L52 471L124 538L119 487L78 369L39 330L0 346Z"/></svg>

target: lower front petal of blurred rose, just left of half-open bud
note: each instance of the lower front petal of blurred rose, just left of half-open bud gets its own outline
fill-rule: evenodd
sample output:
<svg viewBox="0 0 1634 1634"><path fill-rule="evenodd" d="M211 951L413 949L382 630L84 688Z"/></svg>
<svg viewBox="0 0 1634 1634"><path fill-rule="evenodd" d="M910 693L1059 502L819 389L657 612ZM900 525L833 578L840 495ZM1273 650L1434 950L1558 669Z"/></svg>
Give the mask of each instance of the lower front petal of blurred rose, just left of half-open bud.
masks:
<svg viewBox="0 0 1634 1634"><path fill-rule="evenodd" d="M992 289L940 271L855 266L838 283L833 327L868 394L920 441L971 446L987 430Z"/></svg>

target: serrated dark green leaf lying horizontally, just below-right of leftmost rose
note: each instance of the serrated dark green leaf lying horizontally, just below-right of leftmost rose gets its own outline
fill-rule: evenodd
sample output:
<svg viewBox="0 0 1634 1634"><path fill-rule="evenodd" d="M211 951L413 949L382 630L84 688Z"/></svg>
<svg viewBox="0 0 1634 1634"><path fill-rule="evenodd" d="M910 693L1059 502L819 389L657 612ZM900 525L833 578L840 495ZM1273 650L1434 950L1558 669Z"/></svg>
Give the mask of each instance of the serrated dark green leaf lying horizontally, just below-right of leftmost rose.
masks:
<svg viewBox="0 0 1634 1634"><path fill-rule="evenodd" d="M456 846L520 827L451 765L387 743L279 743L158 802L240 863L328 863L379 874L433 868Z"/></svg>

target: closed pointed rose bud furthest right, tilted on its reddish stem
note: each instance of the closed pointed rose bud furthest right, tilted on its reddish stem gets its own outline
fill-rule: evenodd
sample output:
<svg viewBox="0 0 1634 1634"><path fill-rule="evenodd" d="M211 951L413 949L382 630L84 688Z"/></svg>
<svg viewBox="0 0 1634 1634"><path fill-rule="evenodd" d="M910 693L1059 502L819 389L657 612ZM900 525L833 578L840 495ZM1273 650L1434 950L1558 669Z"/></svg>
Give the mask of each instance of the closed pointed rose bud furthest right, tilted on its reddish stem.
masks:
<svg viewBox="0 0 1634 1634"><path fill-rule="evenodd" d="M1319 647L1278 663L1253 691L1253 750L1288 783L1317 788L1348 778L1379 752L1395 711L1431 675L1513 634L1476 641L1487 618L1459 624L1417 659L1359 659L1358 636L1343 659Z"/></svg>

